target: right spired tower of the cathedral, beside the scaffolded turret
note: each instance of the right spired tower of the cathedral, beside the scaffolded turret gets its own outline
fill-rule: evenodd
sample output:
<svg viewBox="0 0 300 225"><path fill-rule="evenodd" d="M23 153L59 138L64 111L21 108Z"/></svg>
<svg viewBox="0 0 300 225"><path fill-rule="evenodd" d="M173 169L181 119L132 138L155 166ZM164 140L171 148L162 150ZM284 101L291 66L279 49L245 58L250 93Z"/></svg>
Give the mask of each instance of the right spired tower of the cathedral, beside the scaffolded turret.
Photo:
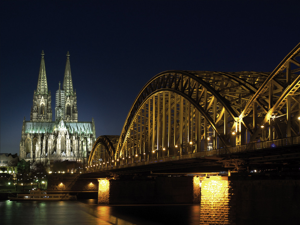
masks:
<svg viewBox="0 0 300 225"><path fill-rule="evenodd" d="M64 75L63 90L65 95L64 120L66 122L77 122L77 98L73 91L73 82L70 67L70 54L67 52L67 62Z"/></svg>

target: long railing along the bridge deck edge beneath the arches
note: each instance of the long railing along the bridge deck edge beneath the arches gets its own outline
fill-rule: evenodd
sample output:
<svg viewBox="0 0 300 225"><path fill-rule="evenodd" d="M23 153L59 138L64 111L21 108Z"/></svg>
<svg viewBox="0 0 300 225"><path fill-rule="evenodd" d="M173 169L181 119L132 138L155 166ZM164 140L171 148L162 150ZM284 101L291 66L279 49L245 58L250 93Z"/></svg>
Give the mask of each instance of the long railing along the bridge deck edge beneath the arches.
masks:
<svg viewBox="0 0 300 225"><path fill-rule="evenodd" d="M245 145L238 145L238 146L232 146L232 147L220 148L220 149L212 149L212 150L207 150L207 151L202 151L197 153L188 153L188 154L178 155L178 156L167 156L164 158L158 158L158 159L153 159L148 161L135 161L131 163L120 164L117 165L117 167L119 169L122 169L131 166L143 166L143 165L150 165L150 164L161 163L161 162L179 161L183 159L201 158L206 156L218 156L222 154L235 153L235 152L246 152L246 151L253 151L253 150L255 151L264 148L272 149L272 148L278 148L283 146L292 146L295 144L300 144L300 136L287 137L283 139L269 140L264 142L248 143ZM110 169L114 169L115 167L116 166L105 167L105 168L89 167L87 168L87 170L88 171L91 171L93 169L110 170Z"/></svg>

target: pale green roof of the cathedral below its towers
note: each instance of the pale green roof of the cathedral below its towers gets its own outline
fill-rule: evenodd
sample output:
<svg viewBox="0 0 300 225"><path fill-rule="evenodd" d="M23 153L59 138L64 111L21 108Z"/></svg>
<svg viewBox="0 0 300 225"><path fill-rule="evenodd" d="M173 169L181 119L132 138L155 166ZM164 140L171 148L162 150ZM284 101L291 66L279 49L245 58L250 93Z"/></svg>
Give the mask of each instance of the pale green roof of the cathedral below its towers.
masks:
<svg viewBox="0 0 300 225"><path fill-rule="evenodd" d="M93 133L92 122L67 123L60 121L55 122L25 122L25 133L52 133L55 130L68 130L69 133Z"/></svg>

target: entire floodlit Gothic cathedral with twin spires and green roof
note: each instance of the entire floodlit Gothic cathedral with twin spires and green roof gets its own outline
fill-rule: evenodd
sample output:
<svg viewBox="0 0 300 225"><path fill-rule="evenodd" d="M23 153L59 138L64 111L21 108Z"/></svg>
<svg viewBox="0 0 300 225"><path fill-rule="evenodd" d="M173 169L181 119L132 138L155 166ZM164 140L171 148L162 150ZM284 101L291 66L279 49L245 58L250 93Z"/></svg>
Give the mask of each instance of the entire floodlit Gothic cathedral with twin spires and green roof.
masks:
<svg viewBox="0 0 300 225"><path fill-rule="evenodd" d="M95 142L95 124L78 122L76 91L67 53L66 69L62 87L56 91L55 121L52 121L51 93L42 51L37 89L33 95L30 121L24 117L20 142L20 159L34 162L78 161L85 164Z"/></svg>

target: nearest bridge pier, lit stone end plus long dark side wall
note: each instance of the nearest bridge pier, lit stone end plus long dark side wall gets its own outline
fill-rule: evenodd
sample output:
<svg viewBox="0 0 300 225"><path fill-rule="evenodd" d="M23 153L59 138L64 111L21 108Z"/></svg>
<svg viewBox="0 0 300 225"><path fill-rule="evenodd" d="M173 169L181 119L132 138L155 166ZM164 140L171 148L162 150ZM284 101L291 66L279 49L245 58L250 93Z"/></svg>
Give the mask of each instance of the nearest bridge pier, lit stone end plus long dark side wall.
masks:
<svg viewBox="0 0 300 225"><path fill-rule="evenodd" d="M201 225L298 224L299 175L201 177Z"/></svg>

